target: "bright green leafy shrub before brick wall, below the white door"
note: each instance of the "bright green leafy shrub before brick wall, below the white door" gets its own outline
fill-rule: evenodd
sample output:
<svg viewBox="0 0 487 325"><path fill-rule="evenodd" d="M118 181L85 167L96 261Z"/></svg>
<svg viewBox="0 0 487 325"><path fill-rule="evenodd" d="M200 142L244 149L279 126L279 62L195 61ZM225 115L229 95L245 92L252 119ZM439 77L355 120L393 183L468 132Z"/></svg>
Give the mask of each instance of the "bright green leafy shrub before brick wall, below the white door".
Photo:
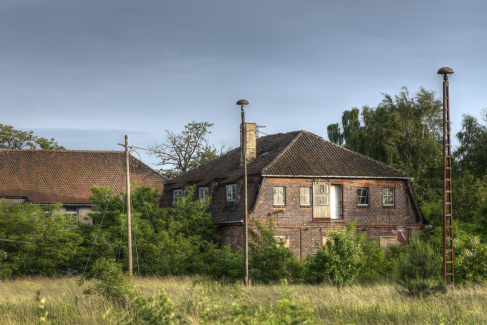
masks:
<svg viewBox="0 0 487 325"><path fill-rule="evenodd" d="M308 255L309 279L330 281L337 287L348 285L364 267L364 253L361 244L365 233L355 234L355 224L330 232L331 240L318 248L315 255Z"/></svg>

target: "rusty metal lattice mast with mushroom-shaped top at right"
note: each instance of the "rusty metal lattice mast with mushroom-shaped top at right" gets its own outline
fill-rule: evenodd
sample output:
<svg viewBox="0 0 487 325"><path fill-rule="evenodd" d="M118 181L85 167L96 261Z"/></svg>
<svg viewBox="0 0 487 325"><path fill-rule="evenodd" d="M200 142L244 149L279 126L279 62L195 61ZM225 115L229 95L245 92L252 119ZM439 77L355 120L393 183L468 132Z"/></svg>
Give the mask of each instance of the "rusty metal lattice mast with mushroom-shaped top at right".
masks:
<svg viewBox="0 0 487 325"><path fill-rule="evenodd" d="M453 216L451 199L451 146L450 146L450 89L448 76L453 70L444 67L438 70L443 75L443 280L451 276L455 284L453 266Z"/></svg>

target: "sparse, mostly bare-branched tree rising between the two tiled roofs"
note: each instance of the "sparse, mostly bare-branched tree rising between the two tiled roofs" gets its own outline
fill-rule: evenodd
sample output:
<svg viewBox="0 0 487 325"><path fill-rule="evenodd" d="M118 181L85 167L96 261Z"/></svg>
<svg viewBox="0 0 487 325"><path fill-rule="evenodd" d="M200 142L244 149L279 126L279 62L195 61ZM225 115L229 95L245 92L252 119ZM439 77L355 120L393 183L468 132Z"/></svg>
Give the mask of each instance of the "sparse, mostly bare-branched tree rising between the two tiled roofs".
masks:
<svg viewBox="0 0 487 325"><path fill-rule="evenodd" d="M218 150L209 144L206 137L206 134L211 133L208 128L212 125L213 123L193 121L185 125L180 134L165 130L166 142L149 146L150 155L154 154L161 160L157 163L158 166L172 166L161 169L160 172L172 178L218 157ZM223 153L224 148L225 144L222 144L220 153Z"/></svg>

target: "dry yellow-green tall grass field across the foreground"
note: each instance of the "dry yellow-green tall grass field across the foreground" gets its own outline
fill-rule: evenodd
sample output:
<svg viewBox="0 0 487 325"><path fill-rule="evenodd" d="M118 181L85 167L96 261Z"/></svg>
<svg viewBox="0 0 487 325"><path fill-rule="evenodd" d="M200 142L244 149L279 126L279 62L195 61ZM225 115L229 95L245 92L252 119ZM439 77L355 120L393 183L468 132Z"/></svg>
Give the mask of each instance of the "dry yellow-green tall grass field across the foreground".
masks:
<svg viewBox="0 0 487 325"><path fill-rule="evenodd" d="M0 282L0 324L41 324L37 290L46 298L53 324L123 324L124 314L131 317L130 304L83 295L89 284L77 287L76 280L25 278ZM190 324L198 324L205 308L217 318L228 318L238 308L232 305L235 294L244 295L242 299L250 310L259 306L271 310L283 292L288 292L297 306L311 307L314 320L321 324L487 324L487 286L457 286L445 295L412 298L399 293L392 283L355 284L341 290L328 285L243 288L189 276L146 277L136 283L140 294L147 298L166 290L177 312ZM140 320L134 324L140 324Z"/></svg>

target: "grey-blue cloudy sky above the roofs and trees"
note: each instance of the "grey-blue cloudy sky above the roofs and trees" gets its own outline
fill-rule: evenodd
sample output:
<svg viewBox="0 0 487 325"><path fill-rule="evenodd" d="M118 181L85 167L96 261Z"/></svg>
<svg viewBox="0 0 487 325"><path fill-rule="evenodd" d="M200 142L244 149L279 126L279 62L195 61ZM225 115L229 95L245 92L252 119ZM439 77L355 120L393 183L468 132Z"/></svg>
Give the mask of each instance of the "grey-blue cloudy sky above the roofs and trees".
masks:
<svg viewBox="0 0 487 325"><path fill-rule="evenodd" d="M326 138L381 93L440 98L448 66L456 134L487 106L486 14L468 0L2 0L0 123L123 150L125 134L146 148L208 121L210 142L235 148L247 99L265 133Z"/></svg>

